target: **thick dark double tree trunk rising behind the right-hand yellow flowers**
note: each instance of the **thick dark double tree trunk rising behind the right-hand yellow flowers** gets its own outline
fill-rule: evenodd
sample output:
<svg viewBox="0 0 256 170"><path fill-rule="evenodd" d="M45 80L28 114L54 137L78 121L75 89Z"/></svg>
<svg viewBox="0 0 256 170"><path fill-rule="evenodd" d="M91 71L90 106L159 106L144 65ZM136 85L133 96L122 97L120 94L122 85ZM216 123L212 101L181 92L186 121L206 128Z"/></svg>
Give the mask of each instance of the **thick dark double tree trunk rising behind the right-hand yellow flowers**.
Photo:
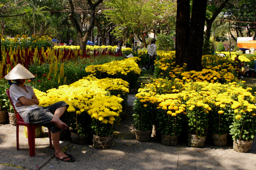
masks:
<svg viewBox="0 0 256 170"><path fill-rule="evenodd" d="M193 1L189 26L189 0L177 1L175 63L186 63L188 70L202 69L206 4L207 0Z"/></svg>

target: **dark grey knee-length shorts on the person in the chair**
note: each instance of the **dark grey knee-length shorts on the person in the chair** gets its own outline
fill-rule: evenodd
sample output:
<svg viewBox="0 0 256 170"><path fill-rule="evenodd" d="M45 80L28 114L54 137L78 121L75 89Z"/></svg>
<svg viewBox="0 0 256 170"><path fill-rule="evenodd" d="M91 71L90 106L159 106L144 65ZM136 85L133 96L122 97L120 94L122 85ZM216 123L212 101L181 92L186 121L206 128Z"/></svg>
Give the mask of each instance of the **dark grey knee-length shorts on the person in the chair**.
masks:
<svg viewBox="0 0 256 170"><path fill-rule="evenodd" d="M56 133L61 129L57 128L55 125L51 123L55 110L60 107L67 106L68 104L64 101L58 101L47 107L38 107L34 110L28 112L29 123L39 124L46 128L50 128L52 133Z"/></svg>

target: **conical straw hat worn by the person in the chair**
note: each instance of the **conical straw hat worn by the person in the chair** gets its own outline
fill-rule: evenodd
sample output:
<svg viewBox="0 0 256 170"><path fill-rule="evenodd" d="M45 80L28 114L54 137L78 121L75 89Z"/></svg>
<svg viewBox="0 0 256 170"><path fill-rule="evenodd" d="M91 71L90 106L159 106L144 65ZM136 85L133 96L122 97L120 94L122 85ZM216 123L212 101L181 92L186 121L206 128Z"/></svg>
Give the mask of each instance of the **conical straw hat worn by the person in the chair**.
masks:
<svg viewBox="0 0 256 170"><path fill-rule="evenodd" d="M20 63L17 64L4 78L7 80L28 79L35 76Z"/></svg>

